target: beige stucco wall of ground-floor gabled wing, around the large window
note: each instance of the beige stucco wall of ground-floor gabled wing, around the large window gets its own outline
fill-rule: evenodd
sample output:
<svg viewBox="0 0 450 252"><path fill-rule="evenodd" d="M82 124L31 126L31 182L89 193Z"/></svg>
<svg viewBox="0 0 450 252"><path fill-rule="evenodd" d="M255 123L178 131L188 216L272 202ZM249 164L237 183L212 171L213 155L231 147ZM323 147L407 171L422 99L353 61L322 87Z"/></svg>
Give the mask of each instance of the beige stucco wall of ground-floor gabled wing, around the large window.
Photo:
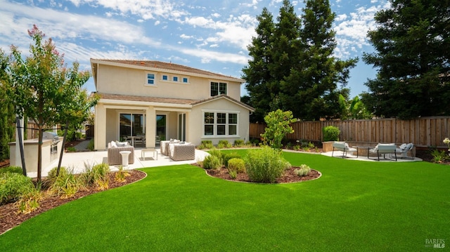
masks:
<svg viewBox="0 0 450 252"><path fill-rule="evenodd" d="M236 137L228 135L204 136L203 112L238 113L238 135ZM200 145L202 140L211 140L213 145L217 145L219 140L228 140L231 144L233 144L234 140L239 139L247 141L249 136L249 113L250 111L245 107L224 98L196 105L193 107L188 120L189 127L186 129L186 140L193 142L195 145Z"/></svg>

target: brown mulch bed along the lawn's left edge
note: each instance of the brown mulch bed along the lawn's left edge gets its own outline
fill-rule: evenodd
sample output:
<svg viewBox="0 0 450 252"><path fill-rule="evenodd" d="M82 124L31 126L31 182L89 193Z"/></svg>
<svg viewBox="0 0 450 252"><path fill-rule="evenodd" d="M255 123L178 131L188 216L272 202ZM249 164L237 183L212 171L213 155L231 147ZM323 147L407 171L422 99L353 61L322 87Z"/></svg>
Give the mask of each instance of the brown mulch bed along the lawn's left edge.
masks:
<svg viewBox="0 0 450 252"><path fill-rule="evenodd" d="M131 170L129 171L129 174L130 175L127 178L125 178L126 181L121 183L116 182L114 180L115 173L110 173L109 189L121 187L123 185L128 185L146 177L146 173L143 173L142 171ZM99 191L95 187L89 187L86 188L86 190L77 192L77 194L75 194L74 197L70 197L68 199L61 199L60 197L57 196L46 196L42 201L39 202L39 208L37 208L36 211L27 214L18 213L18 208L13 203L0 206L0 234L3 234L7 230L10 230L15 226L20 225L20 223L23 223L25 220L33 218L36 215L39 215L39 213L44 213L45 211L48 211L51 208L55 208L56 206L60 206L69 201L73 201L75 199L79 199L89 194L94 194L96 192Z"/></svg>

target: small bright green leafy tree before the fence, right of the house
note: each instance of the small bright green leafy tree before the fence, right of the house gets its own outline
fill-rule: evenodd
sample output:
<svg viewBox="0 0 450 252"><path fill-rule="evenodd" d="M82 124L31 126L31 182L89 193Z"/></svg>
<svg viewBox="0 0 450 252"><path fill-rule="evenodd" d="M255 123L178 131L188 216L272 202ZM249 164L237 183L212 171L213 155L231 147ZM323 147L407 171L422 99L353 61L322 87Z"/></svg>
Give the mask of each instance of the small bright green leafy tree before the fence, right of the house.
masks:
<svg viewBox="0 0 450 252"><path fill-rule="evenodd" d="M281 140L288 133L294 133L291 123L297 121L293 119L293 112L276 110L269 112L264 117L267 127L264 133L261 134L264 144L269 144L274 149L281 149L283 146Z"/></svg>

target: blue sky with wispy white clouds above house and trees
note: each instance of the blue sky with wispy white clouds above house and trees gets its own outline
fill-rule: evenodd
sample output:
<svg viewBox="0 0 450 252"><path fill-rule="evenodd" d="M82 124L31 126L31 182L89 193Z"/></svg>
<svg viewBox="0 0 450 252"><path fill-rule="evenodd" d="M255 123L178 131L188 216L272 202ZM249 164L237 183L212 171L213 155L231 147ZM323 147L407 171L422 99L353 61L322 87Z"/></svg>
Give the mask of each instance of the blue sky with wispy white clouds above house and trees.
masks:
<svg viewBox="0 0 450 252"><path fill-rule="evenodd" d="M292 1L297 15L303 1ZM373 15L387 0L330 0L336 13L335 57L359 57L350 72L351 96L367 91L375 69L361 60L372 52L366 34ZM256 16L266 7L276 17L282 0L0 0L0 48L18 46L27 55L27 29L36 24L51 37L65 61L91 69L90 58L160 60L241 77L247 46L255 36ZM86 85L95 91L94 81ZM241 88L245 92L244 86Z"/></svg>

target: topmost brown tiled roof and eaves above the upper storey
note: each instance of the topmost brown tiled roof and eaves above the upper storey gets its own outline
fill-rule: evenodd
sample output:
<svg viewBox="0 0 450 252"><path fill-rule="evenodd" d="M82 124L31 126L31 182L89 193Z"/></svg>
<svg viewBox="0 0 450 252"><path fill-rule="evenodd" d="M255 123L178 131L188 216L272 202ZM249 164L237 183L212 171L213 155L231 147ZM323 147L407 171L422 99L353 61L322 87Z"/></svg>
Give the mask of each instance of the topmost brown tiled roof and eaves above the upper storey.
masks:
<svg viewBox="0 0 450 252"><path fill-rule="evenodd" d="M187 67L184 65L174 64L172 62L161 62L154 60L113 60L113 59L93 59L91 58L92 76L94 81L97 79L97 65L113 65L116 67L129 67L134 69L145 69L155 72L167 72L173 74L185 74L188 76L204 77L211 79L219 79L224 81L236 81L241 84L245 82L244 79L226 76L224 74L216 74L202 69Z"/></svg>

